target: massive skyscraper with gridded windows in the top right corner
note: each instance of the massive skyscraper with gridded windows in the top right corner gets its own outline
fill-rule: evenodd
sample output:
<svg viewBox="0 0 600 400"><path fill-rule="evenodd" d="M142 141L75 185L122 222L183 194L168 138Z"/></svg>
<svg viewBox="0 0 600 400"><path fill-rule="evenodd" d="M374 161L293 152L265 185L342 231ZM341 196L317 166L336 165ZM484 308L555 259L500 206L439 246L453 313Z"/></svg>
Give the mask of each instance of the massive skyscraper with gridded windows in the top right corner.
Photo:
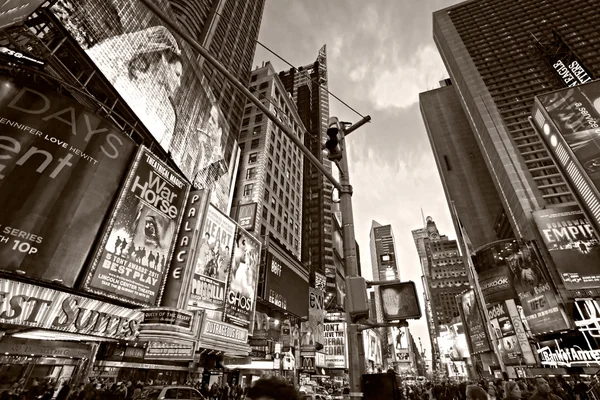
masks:
<svg viewBox="0 0 600 400"><path fill-rule="evenodd" d="M528 117L534 96L560 88L535 50L557 31L600 73L598 7L574 1L467 1L435 12L433 34L517 237L531 211L574 198Z"/></svg>

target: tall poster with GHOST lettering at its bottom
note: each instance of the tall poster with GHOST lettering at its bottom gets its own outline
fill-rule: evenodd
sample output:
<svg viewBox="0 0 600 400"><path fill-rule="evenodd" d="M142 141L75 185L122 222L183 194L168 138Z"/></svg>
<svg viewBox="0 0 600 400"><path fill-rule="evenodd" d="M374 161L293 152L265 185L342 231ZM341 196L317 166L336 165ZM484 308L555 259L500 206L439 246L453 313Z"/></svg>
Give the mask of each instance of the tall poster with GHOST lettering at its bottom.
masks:
<svg viewBox="0 0 600 400"><path fill-rule="evenodd" d="M225 295L225 322L252 329L250 322L256 306L259 264L260 242L237 227L229 284Z"/></svg>

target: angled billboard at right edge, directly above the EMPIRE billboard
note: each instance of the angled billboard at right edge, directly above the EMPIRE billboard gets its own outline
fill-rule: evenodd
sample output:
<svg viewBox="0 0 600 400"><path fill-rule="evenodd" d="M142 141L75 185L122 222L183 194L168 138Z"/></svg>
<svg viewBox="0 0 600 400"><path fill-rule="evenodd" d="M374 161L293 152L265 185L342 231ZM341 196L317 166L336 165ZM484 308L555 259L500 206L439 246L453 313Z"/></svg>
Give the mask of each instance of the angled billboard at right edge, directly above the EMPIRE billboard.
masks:
<svg viewBox="0 0 600 400"><path fill-rule="evenodd" d="M592 226L600 229L600 81L536 97L533 121Z"/></svg>

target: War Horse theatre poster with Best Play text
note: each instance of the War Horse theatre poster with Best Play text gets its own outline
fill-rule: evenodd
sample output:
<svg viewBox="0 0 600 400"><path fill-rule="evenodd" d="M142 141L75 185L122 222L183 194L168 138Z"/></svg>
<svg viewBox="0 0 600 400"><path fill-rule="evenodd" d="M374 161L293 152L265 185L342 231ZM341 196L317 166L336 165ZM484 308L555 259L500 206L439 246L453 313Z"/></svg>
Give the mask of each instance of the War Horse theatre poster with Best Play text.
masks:
<svg viewBox="0 0 600 400"><path fill-rule="evenodd" d="M158 305L189 184L141 147L112 211L84 289L136 305Z"/></svg>

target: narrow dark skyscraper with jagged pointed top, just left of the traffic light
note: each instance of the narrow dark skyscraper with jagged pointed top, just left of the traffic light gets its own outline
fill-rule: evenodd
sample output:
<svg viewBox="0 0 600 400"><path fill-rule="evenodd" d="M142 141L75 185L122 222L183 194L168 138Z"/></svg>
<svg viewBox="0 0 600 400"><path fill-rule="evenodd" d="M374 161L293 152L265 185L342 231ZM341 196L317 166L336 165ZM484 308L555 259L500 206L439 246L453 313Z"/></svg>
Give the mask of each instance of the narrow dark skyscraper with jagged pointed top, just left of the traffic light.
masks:
<svg viewBox="0 0 600 400"><path fill-rule="evenodd" d="M315 62L279 73L293 98L308 134L304 145L331 170L331 162L323 157L322 144L327 136L329 94L327 92L327 51L319 50ZM334 269L333 257L333 186L311 163L304 163L302 261L315 274L325 275ZM332 274L330 274L332 275Z"/></svg>

